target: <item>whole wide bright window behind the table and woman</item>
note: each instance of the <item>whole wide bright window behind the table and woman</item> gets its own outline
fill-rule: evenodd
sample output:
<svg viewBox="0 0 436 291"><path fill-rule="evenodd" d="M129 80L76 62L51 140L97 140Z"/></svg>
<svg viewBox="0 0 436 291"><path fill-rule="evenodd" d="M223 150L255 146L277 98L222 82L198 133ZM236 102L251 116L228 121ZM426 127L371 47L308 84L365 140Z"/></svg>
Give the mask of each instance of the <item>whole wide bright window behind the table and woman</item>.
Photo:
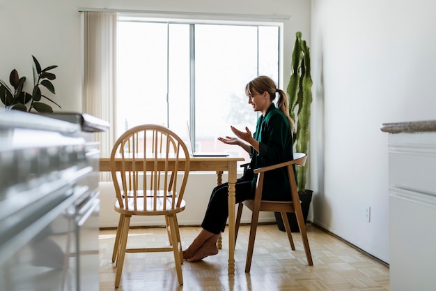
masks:
<svg viewBox="0 0 436 291"><path fill-rule="evenodd" d="M279 24L159 22L118 18L116 135L138 124L168 126L198 151L228 151L230 126L254 131L245 84L279 80Z"/></svg>

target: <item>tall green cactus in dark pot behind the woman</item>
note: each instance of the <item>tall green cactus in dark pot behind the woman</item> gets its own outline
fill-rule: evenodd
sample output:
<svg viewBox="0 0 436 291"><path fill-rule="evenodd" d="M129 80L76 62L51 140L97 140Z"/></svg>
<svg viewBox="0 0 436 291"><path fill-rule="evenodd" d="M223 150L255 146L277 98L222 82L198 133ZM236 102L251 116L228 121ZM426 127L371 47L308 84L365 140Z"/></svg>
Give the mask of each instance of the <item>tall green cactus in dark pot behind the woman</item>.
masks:
<svg viewBox="0 0 436 291"><path fill-rule="evenodd" d="M295 152L307 154L310 131L309 121L311 118L312 103L312 77L311 77L311 57L309 46L306 40L302 40L302 33L295 33L295 46L293 50L291 75L286 89L289 98L289 114L293 120L297 121L293 145ZM295 119L297 117L297 119ZM304 167L295 167L297 175L297 188L299 199L302 202L304 223L307 221L309 206L312 200L312 192L306 189L306 172L309 163ZM288 214L290 228L293 232L298 232L297 219L295 214ZM276 213L277 225L280 230L285 231L281 215Z"/></svg>

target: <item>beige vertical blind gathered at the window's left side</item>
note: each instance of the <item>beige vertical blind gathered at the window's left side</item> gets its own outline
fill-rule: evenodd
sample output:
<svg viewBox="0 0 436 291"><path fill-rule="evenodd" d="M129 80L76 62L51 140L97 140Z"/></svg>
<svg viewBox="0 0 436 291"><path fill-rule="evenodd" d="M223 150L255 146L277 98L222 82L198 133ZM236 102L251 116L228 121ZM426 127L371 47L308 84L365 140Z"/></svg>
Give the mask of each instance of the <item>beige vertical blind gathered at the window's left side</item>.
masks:
<svg viewBox="0 0 436 291"><path fill-rule="evenodd" d="M111 128L98 133L102 156L109 156L115 142L116 120L116 26L117 13L84 12L83 111L108 121ZM100 181L110 181L101 173Z"/></svg>

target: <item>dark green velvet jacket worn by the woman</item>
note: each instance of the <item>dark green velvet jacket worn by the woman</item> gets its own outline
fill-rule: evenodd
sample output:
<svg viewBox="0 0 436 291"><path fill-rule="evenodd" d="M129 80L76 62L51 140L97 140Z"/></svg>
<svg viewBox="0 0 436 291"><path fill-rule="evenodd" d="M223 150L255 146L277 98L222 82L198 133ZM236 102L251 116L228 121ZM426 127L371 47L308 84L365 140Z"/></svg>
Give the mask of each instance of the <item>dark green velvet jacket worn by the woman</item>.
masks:
<svg viewBox="0 0 436 291"><path fill-rule="evenodd" d="M259 152L251 148L251 169L293 160L293 137L289 121L274 103L268 108L265 117L259 117L253 137L259 142ZM253 194L256 181L257 175L251 181ZM291 199L286 167L265 173L262 199Z"/></svg>

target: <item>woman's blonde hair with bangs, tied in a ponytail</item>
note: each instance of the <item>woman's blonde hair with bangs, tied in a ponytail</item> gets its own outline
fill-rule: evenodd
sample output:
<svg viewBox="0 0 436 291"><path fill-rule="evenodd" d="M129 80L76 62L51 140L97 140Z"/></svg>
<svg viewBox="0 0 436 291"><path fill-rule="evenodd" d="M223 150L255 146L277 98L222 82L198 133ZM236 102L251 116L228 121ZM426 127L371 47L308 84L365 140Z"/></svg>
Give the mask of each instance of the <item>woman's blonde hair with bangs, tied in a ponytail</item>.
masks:
<svg viewBox="0 0 436 291"><path fill-rule="evenodd" d="M279 107L281 112L285 114L286 118L289 121L290 129L294 131L294 121L292 118L290 118L289 115L289 100L288 95L286 95L285 91L277 89L274 81L267 76L258 76L251 80L247 84L247 86L245 86L245 94L247 94L247 96L252 96L253 91L255 91L256 93L268 92L271 100L274 100L276 98L276 93L279 93L277 107Z"/></svg>

